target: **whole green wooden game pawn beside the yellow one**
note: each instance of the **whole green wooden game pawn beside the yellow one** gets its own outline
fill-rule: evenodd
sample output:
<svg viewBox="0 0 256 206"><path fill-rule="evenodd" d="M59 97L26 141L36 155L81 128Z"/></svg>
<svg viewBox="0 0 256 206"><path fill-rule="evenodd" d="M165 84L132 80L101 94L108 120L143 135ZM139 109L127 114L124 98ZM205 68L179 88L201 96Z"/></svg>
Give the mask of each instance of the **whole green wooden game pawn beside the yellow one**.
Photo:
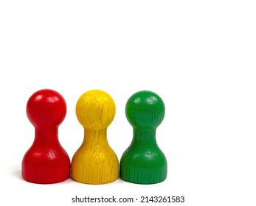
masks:
<svg viewBox="0 0 256 206"><path fill-rule="evenodd" d="M167 161L156 143L156 127L165 116L164 102L156 93L139 91L128 99L125 113L134 128L134 137L122 154L120 177L138 184L164 181L167 177Z"/></svg>

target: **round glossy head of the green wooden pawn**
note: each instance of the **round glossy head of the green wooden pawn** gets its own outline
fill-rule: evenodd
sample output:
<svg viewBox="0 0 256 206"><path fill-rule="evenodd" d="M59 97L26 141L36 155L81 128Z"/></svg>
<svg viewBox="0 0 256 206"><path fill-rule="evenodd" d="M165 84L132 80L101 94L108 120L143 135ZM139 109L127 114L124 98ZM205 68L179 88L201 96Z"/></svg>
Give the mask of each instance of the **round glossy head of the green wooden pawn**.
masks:
<svg viewBox="0 0 256 206"><path fill-rule="evenodd" d="M165 117L165 104L156 93L142 90L128 99L125 114L132 127L156 129Z"/></svg>

